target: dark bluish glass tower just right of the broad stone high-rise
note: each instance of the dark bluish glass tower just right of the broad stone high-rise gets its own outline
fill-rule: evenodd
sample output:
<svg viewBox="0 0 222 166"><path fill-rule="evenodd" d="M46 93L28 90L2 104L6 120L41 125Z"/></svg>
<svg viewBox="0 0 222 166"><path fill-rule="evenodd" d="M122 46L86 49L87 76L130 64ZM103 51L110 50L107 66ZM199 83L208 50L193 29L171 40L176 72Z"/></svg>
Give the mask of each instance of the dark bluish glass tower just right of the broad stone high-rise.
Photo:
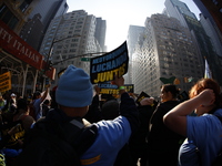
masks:
<svg viewBox="0 0 222 166"><path fill-rule="evenodd" d="M213 79L215 79L219 84L222 85L222 64L220 56L213 49L210 37L205 33L200 21L198 21L186 4L179 0L165 0L164 4L168 14L170 17L176 18L183 27L189 28L189 30L192 32L194 42L193 44L196 45L196 50L199 50L198 53L202 56L203 62L204 58L208 60Z"/></svg>

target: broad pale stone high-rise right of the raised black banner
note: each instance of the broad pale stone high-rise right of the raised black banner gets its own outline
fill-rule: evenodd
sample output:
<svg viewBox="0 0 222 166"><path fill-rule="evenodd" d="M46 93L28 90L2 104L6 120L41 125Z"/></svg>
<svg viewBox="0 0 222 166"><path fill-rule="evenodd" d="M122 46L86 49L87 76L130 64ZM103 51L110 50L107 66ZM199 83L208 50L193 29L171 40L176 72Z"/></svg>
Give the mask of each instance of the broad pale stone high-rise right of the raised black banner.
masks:
<svg viewBox="0 0 222 166"><path fill-rule="evenodd" d="M153 14L145 21L144 33L140 35L133 53L133 82L135 93L147 92L159 96L161 77L175 76L182 91L189 91L192 83L203 75L202 61L193 45L189 29L175 18Z"/></svg>

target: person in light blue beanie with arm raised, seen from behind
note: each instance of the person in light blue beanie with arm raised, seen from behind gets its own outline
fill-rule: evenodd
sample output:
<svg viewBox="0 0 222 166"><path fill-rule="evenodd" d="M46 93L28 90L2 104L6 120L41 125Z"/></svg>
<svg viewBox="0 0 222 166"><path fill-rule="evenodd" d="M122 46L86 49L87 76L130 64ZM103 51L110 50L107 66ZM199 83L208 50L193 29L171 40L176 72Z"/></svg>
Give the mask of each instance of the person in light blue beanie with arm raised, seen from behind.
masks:
<svg viewBox="0 0 222 166"><path fill-rule="evenodd" d="M90 76L82 69L69 65L59 80L56 90L56 100L59 108L50 110L44 121L54 121L61 125L75 121L78 126L83 125L85 129L93 128L93 142L90 144L89 139L91 137L89 135L75 133L78 138L74 142L78 142L77 145L80 146L75 149L81 165L113 165L119 151L139 127L137 105L124 90L124 79L122 76L115 77L113 83L119 87L121 94L120 115L111 121L90 124L82 118L88 113L89 105L91 105L93 98L93 86ZM33 128L40 122L37 122ZM69 131L67 133L72 132ZM81 145L84 146L87 144L90 146L87 146L83 151Z"/></svg>

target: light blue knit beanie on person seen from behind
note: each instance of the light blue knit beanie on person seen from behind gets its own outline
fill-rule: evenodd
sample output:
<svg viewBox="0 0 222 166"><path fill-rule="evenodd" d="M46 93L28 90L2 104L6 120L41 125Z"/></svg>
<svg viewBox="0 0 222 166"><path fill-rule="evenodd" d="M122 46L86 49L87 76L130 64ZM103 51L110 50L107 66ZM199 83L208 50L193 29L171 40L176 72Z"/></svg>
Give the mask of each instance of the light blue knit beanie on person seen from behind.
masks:
<svg viewBox="0 0 222 166"><path fill-rule="evenodd" d="M56 101L68 107L84 107L92 102L90 76L79 68L69 65L61 75L56 91Z"/></svg>

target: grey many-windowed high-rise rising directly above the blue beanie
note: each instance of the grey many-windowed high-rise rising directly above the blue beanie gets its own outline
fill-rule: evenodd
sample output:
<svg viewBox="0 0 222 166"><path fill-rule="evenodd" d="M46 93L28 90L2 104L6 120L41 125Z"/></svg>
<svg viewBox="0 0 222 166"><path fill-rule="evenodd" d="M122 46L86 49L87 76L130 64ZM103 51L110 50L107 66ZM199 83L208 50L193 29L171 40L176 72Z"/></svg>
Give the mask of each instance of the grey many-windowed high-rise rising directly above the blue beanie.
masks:
<svg viewBox="0 0 222 166"><path fill-rule="evenodd" d="M95 27L97 18L84 10L57 17L48 28L40 53L52 61L58 72L69 64L89 72L89 61L81 61L81 58L91 58L102 51L95 39Z"/></svg>

